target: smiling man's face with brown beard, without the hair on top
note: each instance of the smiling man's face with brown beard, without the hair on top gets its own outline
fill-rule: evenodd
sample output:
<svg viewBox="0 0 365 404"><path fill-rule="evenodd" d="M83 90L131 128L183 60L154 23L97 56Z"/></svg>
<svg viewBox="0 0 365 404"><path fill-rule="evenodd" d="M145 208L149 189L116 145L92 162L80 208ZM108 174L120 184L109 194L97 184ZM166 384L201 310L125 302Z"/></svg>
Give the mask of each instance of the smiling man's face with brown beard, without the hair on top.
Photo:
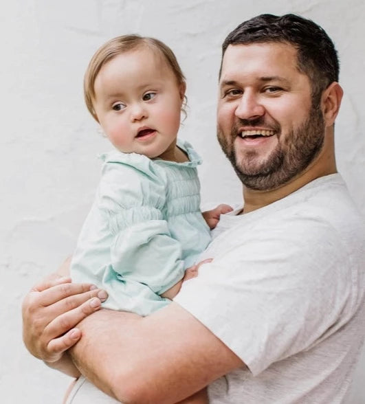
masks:
<svg viewBox="0 0 365 404"><path fill-rule="evenodd" d="M218 138L245 188L278 188L322 150L320 100L318 94L312 96L311 81L298 69L296 54L285 42L225 49ZM340 100L342 91L335 87Z"/></svg>

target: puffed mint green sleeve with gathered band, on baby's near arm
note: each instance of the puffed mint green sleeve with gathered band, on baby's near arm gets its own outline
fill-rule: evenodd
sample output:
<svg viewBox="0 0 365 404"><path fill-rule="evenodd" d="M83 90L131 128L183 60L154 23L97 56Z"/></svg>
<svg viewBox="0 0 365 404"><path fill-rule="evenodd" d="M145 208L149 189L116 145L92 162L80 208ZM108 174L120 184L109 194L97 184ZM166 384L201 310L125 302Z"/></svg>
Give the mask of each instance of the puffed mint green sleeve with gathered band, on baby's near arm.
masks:
<svg viewBox="0 0 365 404"><path fill-rule="evenodd" d="M140 282L162 294L184 276L184 262L162 213L163 173L146 164L104 166L98 199L113 236L113 271L120 280Z"/></svg>

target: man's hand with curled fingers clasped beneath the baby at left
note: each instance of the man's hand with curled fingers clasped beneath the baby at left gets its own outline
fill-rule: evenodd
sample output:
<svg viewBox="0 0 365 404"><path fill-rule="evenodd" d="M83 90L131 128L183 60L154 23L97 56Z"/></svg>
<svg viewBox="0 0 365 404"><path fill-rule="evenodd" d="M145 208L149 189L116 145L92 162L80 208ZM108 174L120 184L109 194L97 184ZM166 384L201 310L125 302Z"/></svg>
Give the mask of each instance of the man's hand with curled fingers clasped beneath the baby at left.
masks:
<svg viewBox="0 0 365 404"><path fill-rule="evenodd" d="M27 350L49 366L58 366L64 352L74 346L81 331L74 328L82 319L100 308L107 293L91 284L73 284L70 278L56 278L36 284L22 305L23 341ZM57 363L60 362L60 363ZM72 366L70 366L72 368ZM74 372L71 372L74 375Z"/></svg>

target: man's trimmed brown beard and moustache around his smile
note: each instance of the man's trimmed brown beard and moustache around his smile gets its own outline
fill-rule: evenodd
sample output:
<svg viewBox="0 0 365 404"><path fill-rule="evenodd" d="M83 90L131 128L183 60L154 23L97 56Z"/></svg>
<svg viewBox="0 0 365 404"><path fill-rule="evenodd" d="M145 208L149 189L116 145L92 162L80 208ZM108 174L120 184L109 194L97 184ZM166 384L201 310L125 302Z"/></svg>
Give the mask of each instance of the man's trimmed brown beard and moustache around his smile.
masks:
<svg viewBox="0 0 365 404"><path fill-rule="evenodd" d="M257 163L254 150L247 151L241 161L236 159L234 139L239 136L239 127L267 127L262 118L256 120L239 120L232 128L230 142L218 131L218 140L225 155L230 160L241 182L252 190L272 190L289 182L304 171L318 156L324 142L324 120L320 104L312 102L311 110L305 122L297 129L287 133L283 143L276 148L265 161ZM280 133L280 125L271 127L275 133ZM274 135L275 136L275 135Z"/></svg>

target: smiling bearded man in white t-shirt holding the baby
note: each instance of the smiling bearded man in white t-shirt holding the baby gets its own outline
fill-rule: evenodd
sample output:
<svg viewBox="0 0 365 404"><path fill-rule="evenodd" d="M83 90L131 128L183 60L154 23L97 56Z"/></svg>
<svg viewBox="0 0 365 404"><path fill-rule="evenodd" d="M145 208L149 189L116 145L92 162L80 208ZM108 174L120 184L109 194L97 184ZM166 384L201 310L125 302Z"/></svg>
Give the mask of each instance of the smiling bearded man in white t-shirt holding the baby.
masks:
<svg viewBox="0 0 365 404"><path fill-rule="evenodd" d="M95 310L89 294L38 287L23 306L28 349L71 366L61 352L81 329L78 370L124 403L176 403L206 385L210 403L346 403L365 333L365 229L335 166L341 98L318 25L239 25L223 43L217 116L244 205L221 217L212 262L153 315L100 310L68 333ZM80 379L69 402L107 403L91 386Z"/></svg>

